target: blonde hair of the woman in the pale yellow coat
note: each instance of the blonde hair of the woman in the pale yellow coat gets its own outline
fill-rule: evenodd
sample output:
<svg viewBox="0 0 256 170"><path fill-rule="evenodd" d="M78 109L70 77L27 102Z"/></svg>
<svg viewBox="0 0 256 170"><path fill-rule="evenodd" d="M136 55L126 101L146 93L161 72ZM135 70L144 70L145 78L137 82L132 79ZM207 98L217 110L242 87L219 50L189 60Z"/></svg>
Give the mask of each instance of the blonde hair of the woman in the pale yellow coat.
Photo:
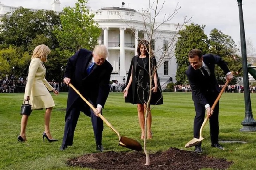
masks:
<svg viewBox="0 0 256 170"><path fill-rule="evenodd" d="M50 54L51 50L48 46L41 44L36 46L36 48L33 51L32 57L33 58L40 58L43 62L47 61L47 56Z"/></svg>

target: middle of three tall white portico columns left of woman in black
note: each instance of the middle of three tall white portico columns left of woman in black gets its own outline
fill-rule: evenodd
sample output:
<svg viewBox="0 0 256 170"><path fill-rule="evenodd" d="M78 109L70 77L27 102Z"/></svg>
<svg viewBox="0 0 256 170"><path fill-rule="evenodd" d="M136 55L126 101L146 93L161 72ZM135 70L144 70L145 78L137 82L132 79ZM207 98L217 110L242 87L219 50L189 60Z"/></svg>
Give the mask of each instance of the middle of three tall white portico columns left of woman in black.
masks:
<svg viewBox="0 0 256 170"><path fill-rule="evenodd" d="M120 76L126 76L125 70L125 56L124 56L124 30L125 28L119 28L120 30Z"/></svg>

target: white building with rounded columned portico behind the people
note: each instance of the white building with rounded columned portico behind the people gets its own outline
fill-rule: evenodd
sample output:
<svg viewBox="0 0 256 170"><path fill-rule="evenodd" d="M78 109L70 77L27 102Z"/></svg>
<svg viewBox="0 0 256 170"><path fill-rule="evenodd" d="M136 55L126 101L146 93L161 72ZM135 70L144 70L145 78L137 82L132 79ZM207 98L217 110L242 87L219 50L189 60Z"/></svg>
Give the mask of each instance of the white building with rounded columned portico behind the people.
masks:
<svg viewBox="0 0 256 170"><path fill-rule="evenodd" d="M89 6L89 4L88 4ZM5 6L0 2L0 17L7 12L12 12L19 7ZM89 7L90 9L90 7ZM40 9L30 9L31 11L38 11ZM52 10L61 12L60 0L53 0ZM127 73L131 64L131 59L137 55L137 46L140 39L147 39L148 34L145 31L145 18L149 17L147 12L137 12L131 8L122 7L106 7L98 9L97 11L90 11L95 15L94 20L101 28L101 36L98 38L99 44L104 44L108 47L109 56L107 60L113 66L111 80L117 80L123 83L127 79ZM155 26L159 26L156 23ZM178 24L164 23L157 28L152 35L151 46L155 53L157 62L161 58L165 47L173 41L173 37L177 34ZM178 29L179 30L179 29ZM175 42L173 43L175 44ZM158 76L160 83L164 84L168 80L176 82L177 64L173 54L173 49L166 49L168 55L161 59L158 65ZM159 55L158 55L159 54Z"/></svg>

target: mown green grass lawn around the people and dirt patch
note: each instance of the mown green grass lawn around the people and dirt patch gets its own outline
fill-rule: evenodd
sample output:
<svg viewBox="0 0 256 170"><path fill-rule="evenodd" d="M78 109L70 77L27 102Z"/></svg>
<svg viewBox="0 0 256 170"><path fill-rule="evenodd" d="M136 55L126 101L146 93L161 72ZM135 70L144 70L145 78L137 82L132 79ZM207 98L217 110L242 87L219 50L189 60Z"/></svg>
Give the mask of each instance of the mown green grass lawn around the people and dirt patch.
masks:
<svg viewBox="0 0 256 170"><path fill-rule="evenodd" d="M65 164L68 158L95 152L93 129L89 117L81 113L77 123L74 146L60 151L64 131L67 93L53 96L55 108L51 116L51 133L58 142L43 142L44 112L33 111L27 126L27 142L20 143L20 106L24 94L0 94L0 169L79 169ZM224 151L210 147L209 124L205 126L202 144L203 154L226 158L234 164L230 170L256 169L256 133L240 132L244 119L244 95L224 93L220 99L220 140L242 140L247 144L222 144ZM252 111L255 111L256 94L251 94ZM255 113L255 112L254 112ZM124 103L121 93L111 93L103 115L122 136L140 140L137 107ZM191 93L164 93L164 105L152 110L153 139L148 141L148 150L156 152L176 147L184 150L193 138L194 105ZM255 116L256 117L256 116ZM104 125L103 145L106 151L127 151L118 146L117 135Z"/></svg>

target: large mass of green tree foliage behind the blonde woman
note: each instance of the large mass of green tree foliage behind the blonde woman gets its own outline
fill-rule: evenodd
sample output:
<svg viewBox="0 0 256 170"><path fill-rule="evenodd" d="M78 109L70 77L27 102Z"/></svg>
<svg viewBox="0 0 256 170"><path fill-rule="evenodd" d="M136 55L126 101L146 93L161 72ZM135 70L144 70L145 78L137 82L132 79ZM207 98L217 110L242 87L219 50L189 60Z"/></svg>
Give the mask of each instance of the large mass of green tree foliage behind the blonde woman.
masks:
<svg viewBox="0 0 256 170"><path fill-rule="evenodd" d="M23 7L5 14L0 25L0 76L14 71L16 76L27 76L33 50L45 44L51 50L46 79L60 82L67 59L80 48L93 50L98 43L101 30L86 2L77 0L75 7L65 7L60 14Z"/></svg>

